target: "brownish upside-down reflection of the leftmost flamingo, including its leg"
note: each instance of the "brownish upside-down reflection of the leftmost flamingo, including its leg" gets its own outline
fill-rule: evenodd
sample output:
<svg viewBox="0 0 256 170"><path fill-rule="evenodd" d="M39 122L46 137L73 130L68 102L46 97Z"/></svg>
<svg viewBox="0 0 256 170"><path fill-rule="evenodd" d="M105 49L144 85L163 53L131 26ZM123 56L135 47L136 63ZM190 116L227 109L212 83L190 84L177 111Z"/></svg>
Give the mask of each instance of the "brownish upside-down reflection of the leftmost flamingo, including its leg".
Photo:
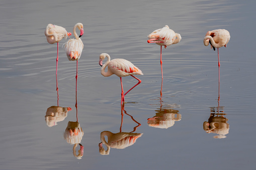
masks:
<svg viewBox="0 0 256 170"><path fill-rule="evenodd" d="M58 80L56 74L56 91L57 91L57 105L47 108L45 121L47 126L52 127L57 125L57 122L63 121L67 117L67 112L72 110L70 107L60 107L59 106L59 89L58 89Z"/></svg>

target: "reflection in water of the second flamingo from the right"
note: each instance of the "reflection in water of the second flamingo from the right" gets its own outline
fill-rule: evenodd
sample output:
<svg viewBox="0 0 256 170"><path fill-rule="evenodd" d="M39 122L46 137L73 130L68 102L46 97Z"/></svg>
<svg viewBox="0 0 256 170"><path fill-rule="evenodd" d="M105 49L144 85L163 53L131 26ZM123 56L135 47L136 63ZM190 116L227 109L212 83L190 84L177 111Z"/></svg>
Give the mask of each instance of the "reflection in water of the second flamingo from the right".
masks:
<svg viewBox="0 0 256 170"><path fill-rule="evenodd" d="M180 121L182 115L179 110L174 110L172 108L162 108L162 94L160 99L160 108L155 110L155 116L147 119L147 124L151 127L165 128L172 127L175 121Z"/></svg>

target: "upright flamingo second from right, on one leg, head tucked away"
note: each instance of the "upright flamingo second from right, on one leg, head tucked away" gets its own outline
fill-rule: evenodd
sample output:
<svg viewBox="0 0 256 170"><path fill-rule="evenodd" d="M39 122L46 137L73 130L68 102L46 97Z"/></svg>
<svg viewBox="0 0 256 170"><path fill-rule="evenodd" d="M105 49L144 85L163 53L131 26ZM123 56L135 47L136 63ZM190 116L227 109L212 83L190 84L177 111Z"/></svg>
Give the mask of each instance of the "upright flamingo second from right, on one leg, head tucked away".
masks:
<svg viewBox="0 0 256 170"><path fill-rule="evenodd" d="M177 44L181 41L182 37L180 34L175 33L173 30L169 29L169 27L166 25L162 29L158 29L153 31L148 36L147 42L148 43L155 43L159 46L161 46L160 50L160 64L161 64L161 73L162 73L162 46L166 48L167 46L170 46L172 44ZM163 76L162 76L163 78Z"/></svg>

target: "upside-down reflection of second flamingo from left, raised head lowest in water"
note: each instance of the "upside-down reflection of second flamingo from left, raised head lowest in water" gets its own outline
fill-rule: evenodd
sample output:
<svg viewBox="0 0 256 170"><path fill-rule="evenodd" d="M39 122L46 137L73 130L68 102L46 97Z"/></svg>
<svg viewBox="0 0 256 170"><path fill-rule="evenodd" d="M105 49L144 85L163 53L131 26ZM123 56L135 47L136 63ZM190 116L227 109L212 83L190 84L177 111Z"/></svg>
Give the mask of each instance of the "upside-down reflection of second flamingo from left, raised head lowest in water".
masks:
<svg viewBox="0 0 256 170"><path fill-rule="evenodd" d="M73 144L73 155L77 159L81 159L83 155L83 146L80 144L83 136L83 130L80 127L78 122L78 111L77 111L77 91L75 92L75 108L76 108L76 121L69 121L67 123L67 127L65 132L63 133L63 137L67 143ZM76 147L79 144L80 149L78 150L78 154L76 154Z"/></svg>

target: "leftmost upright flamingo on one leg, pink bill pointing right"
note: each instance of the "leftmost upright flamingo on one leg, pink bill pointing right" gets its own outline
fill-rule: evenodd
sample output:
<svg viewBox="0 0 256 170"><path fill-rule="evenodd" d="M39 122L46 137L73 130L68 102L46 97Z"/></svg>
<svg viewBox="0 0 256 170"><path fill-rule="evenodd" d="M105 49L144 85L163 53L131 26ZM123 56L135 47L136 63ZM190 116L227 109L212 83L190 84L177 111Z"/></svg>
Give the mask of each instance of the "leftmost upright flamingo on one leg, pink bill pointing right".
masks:
<svg viewBox="0 0 256 170"><path fill-rule="evenodd" d="M47 42L50 44L57 43L57 59L56 59L56 75L58 70L58 60L59 60L59 41L63 38L67 39L67 36L71 36L66 29L60 26L48 24L44 32Z"/></svg>

